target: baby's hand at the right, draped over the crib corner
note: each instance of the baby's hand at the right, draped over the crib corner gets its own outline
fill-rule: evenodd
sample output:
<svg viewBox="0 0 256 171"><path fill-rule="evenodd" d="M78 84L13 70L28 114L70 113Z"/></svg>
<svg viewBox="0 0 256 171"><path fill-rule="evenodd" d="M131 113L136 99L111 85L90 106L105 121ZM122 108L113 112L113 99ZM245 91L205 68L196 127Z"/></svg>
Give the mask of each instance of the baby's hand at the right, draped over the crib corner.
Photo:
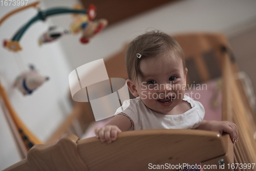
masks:
<svg viewBox="0 0 256 171"><path fill-rule="evenodd" d="M219 132L220 134L223 132L228 133L234 144L238 141L238 127L229 121L212 122L210 130Z"/></svg>

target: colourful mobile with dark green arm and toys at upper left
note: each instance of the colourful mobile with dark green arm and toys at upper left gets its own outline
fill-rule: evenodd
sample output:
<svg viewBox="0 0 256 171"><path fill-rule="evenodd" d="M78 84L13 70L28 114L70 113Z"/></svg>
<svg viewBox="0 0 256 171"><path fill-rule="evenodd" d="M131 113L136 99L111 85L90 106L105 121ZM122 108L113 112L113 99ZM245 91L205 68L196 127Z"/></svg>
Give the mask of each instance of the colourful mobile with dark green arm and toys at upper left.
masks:
<svg viewBox="0 0 256 171"><path fill-rule="evenodd" d="M19 11L25 10L29 7L36 7L39 4L39 2L35 2L31 5L28 5L26 7L22 7L19 9L16 9L15 11L12 11L5 15L1 20L0 20L0 25L4 22L5 19L7 19L9 16L13 15L14 13L17 13ZM77 7L76 7L77 8ZM72 14L79 14L75 16L75 22L71 26L71 33L78 33L80 31L82 32L82 38L81 42L88 42L91 37L93 37L95 34L97 34L99 31L101 31L107 24L108 22L105 19L101 19L98 22L94 22L93 19L96 16L96 7L94 5L90 5L88 10L86 9L68 9L68 8L52 8L52 9L47 9L47 10L38 10L38 13L36 16L31 18L27 24L25 24L22 28L20 28L12 37L10 40L4 40L3 45L5 48L9 49L10 51L13 52L18 52L22 50L22 47L19 45L19 40L22 38L23 34L26 32L26 30L37 20L46 20L47 17L57 15L57 14L65 14L65 13L72 13ZM51 27L49 31L44 33L40 38L39 38L39 44L46 43L46 42L51 42L52 40L55 40L61 35L68 33L69 31L57 31L57 33L52 33L55 32L57 27L53 28ZM54 31L55 30L55 31Z"/></svg>

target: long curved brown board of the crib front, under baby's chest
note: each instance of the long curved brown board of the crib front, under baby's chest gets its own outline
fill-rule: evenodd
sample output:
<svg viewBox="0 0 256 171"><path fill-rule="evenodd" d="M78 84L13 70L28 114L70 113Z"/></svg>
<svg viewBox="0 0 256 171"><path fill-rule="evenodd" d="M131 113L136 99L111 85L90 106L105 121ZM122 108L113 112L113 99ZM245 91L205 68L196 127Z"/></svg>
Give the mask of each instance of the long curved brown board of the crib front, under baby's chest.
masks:
<svg viewBox="0 0 256 171"><path fill-rule="evenodd" d="M89 170L113 171L147 170L150 163L191 165L225 156L227 153L223 139L218 133L202 130L122 132L118 134L117 140L110 144L91 137L78 141L78 151Z"/></svg>

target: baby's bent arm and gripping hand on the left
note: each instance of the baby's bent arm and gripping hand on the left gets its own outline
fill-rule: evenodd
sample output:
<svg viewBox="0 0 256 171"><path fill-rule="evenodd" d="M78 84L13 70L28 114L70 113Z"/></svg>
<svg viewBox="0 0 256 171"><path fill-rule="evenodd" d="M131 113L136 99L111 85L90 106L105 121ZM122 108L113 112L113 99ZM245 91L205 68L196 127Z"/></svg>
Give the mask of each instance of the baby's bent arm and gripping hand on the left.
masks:
<svg viewBox="0 0 256 171"><path fill-rule="evenodd" d="M109 123L101 128L95 129L95 135L101 142L111 143L117 138L117 134L130 130L131 120L124 115L116 115Z"/></svg>

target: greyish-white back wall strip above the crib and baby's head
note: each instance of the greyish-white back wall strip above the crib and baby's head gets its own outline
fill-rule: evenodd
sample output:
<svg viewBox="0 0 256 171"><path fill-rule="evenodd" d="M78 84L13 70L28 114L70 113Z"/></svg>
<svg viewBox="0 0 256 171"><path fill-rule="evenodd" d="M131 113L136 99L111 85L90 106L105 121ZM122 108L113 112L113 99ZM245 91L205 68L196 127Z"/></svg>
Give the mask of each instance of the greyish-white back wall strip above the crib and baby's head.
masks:
<svg viewBox="0 0 256 171"><path fill-rule="evenodd" d="M59 1L44 1L47 7L54 7ZM61 1L72 6L76 1ZM89 45L81 45L78 36L60 40L74 68L84 63L104 58L120 50L124 42L130 41L148 28L166 33L192 31L224 32L227 36L236 34L241 28L256 25L256 1L254 0L183 0L163 5L154 10L124 20L106 28ZM110 11L114 12L114 11ZM117 14L118 15L118 14ZM68 28L71 17L65 20L54 18L53 23ZM72 42L72 43L71 43Z"/></svg>

